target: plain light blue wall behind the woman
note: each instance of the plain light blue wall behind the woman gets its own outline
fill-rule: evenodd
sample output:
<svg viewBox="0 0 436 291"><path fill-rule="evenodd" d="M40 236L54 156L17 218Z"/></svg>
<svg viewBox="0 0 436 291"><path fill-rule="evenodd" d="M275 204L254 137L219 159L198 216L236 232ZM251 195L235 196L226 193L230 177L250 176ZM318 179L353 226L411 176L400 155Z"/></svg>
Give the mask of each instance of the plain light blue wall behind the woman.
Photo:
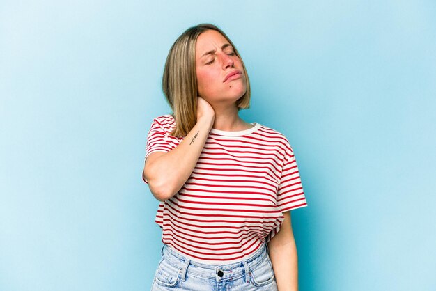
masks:
<svg viewBox="0 0 436 291"><path fill-rule="evenodd" d="M0 290L149 290L146 134L166 54L212 22L285 134L300 290L435 290L435 1L2 1Z"/></svg>

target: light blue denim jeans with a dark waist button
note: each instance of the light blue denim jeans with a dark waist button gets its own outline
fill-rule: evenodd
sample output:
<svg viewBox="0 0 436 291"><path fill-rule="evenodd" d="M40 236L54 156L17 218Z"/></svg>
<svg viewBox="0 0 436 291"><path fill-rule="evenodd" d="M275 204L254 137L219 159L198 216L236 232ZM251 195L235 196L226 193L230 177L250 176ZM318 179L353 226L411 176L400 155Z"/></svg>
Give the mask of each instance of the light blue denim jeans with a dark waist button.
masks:
<svg viewBox="0 0 436 291"><path fill-rule="evenodd" d="M189 260L164 244L151 291L277 291L267 244L250 258L228 265L208 265Z"/></svg>

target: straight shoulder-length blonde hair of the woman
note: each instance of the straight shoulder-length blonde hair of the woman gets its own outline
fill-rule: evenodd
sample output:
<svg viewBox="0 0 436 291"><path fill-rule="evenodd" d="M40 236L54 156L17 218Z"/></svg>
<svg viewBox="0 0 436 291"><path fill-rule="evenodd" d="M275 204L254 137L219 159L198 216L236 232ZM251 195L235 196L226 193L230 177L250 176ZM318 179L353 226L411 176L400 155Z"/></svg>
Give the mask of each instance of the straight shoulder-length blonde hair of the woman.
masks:
<svg viewBox="0 0 436 291"><path fill-rule="evenodd" d="M198 24L187 29L173 43L166 57L164 75L162 77L162 89L176 120L172 136L186 136L196 125L197 109L197 80L195 49L198 36L204 31L215 30L221 33L233 46L235 55L238 56L244 68L244 76L247 81L247 91L236 101L238 111L250 107L250 83L244 62L233 42L213 24Z"/></svg>

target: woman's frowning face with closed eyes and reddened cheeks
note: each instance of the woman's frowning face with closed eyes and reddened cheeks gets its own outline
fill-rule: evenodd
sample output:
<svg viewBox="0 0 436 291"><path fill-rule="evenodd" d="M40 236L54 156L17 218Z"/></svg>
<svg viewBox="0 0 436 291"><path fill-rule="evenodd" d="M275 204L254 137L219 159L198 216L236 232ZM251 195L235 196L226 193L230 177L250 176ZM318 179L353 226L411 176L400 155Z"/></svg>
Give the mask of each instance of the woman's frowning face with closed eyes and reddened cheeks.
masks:
<svg viewBox="0 0 436 291"><path fill-rule="evenodd" d="M247 91L242 61L218 31L198 36L195 58L198 95L210 104L234 104Z"/></svg>

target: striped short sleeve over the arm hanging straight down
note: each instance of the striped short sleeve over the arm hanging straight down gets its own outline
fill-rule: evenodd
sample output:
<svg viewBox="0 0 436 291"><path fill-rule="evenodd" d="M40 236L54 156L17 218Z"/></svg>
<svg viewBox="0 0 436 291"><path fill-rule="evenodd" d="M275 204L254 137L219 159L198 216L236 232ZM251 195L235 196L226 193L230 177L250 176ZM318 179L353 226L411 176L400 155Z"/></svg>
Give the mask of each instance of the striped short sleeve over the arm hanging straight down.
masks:
<svg viewBox="0 0 436 291"><path fill-rule="evenodd" d="M277 190L277 206L281 212L306 207L306 197L302 181L299 177L297 160L292 148L286 153L287 160L281 172L279 189Z"/></svg>

